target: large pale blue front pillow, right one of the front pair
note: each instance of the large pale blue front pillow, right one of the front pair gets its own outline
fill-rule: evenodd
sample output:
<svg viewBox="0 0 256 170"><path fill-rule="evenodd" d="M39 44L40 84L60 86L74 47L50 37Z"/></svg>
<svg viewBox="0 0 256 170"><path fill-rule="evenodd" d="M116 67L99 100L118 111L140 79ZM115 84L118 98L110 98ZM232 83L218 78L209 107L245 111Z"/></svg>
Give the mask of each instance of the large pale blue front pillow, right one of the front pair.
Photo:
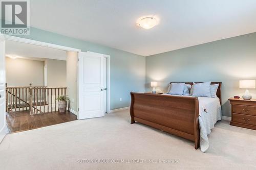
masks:
<svg viewBox="0 0 256 170"><path fill-rule="evenodd" d="M202 96L210 98L210 83L211 82L193 83L191 89L192 96Z"/></svg>

